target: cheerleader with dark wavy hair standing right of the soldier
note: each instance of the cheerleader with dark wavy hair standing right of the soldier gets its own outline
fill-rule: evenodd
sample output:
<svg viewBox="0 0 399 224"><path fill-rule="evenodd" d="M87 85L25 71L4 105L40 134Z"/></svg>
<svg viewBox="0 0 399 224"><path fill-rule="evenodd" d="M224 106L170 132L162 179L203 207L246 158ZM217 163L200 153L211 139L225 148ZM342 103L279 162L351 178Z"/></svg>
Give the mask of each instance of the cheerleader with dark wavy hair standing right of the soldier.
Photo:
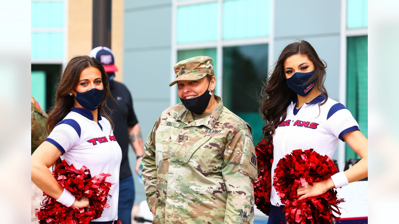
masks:
<svg viewBox="0 0 399 224"><path fill-rule="evenodd" d="M273 187L279 160L295 149L314 149L332 158L339 141L346 141L361 160L345 172L297 189L298 200L322 195L367 177L367 138L344 105L328 98L326 63L307 41L287 45L261 94L259 109L266 121L263 137L274 146L271 169L271 210L268 224L284 222L284 204ZM284 222L285 223L285 222Z"/></svg>

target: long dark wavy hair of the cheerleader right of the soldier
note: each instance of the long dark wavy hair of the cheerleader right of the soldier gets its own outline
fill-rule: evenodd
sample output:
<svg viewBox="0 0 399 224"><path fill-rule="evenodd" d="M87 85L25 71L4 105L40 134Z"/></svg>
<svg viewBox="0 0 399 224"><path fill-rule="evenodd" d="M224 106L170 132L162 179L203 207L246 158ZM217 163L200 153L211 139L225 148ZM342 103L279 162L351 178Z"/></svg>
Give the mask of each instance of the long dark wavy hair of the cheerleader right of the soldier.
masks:
<svg viewBox="0 0 399 224"><path fill-rule="evenodd" d="M284 61L292 55L306 55L314 65L314 75L304 85L310 84L316 79L315 89L328 98L327 90L324 87L326 77L326 62L319 58L316 51L308 41L300 41L288 44L280 53L279 59L275 63L275 69L271 73L269 80L263 83L260 96L259 113L263 115L266 125L263 126L263 138L269 142L273 141L272 135L279 124L287 116L287 106L290 99L296 99L297 95L286 84L284 73ZM324 104L326 100L322 104ZM322 105L322 104L319 104Z"/></svg>

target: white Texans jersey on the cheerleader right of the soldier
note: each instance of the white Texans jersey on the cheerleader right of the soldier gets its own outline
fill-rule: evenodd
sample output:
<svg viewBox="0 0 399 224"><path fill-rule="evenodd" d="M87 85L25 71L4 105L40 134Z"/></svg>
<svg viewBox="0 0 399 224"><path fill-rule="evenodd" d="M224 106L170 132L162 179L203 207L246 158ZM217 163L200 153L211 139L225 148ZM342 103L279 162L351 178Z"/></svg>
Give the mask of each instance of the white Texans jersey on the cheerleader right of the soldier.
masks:
<svg viewBox="0 0 399 224"><path fill-rule="evenodd" d="M273 176L277 163L295 149L314 149L320 155L332 158L338 141L348 132L359 130L359 125L344 105L330 98L320 106L326 96L320 94L300 110L294 109L296 102L287 108L287 116L276 128L273 136L273 164L271 204L280 206L280 197L273 187ZM294 111L295 110L295 111Z"/></svg>

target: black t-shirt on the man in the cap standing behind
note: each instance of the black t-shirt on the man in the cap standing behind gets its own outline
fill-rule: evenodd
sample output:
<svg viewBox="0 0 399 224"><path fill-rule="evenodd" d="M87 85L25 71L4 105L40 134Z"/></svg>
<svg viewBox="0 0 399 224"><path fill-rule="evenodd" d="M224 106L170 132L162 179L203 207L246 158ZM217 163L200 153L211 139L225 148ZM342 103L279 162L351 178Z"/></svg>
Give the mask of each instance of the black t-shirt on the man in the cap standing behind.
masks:
<svg viewBox="0 0 399 224"><path fill-rule="evenodd" d="M110 84L111 94L117 102L107 98L107 105L111 112L107 111L110 115L112 122L114 122L114 136L122 149L122 161L120 162L119 179L131 176L129 160L127 159L127 152L129 148L129 132L128 127L132 127L138 123L136 115L133 110L133 100L130 96L129 90L122 83L113 81Z"/></svg>

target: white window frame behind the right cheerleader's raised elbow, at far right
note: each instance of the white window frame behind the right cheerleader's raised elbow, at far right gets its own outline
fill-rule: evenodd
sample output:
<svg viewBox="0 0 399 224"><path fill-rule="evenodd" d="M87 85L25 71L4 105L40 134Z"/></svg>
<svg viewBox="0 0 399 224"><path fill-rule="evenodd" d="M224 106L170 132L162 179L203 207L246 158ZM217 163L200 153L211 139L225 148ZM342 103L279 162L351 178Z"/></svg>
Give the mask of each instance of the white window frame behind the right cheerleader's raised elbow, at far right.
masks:
<svg viewBox="0 0 399 224"><path fill-rule="evenodd" d="M341 0L341 26L340 26L340 81L339 102L346 105L346 60L347 60L347 38L368 35L368 28L348 29L346 21L347 0ZM344 171L345 166L345 143L338 143L338 167Z"/></svg>

